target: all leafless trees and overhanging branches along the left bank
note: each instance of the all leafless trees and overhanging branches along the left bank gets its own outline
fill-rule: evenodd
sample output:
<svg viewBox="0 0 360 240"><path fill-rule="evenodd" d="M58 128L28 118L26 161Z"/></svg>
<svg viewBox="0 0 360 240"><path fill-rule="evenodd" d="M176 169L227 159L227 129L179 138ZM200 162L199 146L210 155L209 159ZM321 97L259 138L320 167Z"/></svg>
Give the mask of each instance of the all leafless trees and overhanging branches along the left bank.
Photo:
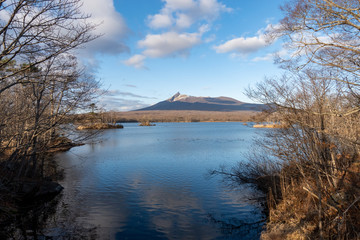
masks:
<svg viewBox="0 0 360 240"><path fill-rule="evenodd" d="M1 189L45 178L48 153L71 144L68 116L96 96L99 82L75 56L98 37L80 8L80 0L0 1Z"/></svg>

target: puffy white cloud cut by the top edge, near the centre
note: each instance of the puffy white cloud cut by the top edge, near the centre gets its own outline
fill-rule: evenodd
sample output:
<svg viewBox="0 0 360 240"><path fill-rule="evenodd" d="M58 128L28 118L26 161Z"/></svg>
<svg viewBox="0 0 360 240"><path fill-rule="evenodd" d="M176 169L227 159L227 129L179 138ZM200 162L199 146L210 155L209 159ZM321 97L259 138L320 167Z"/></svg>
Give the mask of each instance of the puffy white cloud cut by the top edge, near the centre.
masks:
<svg viewBox="0 0 360 240"><path fill-rule="evenodd" d="M159 14L148 16L151 28L186 29L195 22L213 21L221 12L231 11L217 0L163 0L164 7Z"/></svg>

